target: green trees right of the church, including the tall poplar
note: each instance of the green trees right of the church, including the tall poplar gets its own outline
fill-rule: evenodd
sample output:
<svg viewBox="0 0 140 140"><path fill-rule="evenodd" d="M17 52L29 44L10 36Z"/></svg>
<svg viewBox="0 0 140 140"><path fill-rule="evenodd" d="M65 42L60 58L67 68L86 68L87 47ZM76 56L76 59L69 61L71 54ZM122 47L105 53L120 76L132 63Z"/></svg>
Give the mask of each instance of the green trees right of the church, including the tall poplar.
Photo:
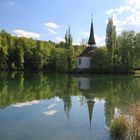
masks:
<svg viewBox="0 0 140 140"><path fill-rule="evenodd" d="M124 31L117 36L111 18L106 29L106 46L92 54L92 71L129 73L134 68L140 68L140 33Z"/></svg>

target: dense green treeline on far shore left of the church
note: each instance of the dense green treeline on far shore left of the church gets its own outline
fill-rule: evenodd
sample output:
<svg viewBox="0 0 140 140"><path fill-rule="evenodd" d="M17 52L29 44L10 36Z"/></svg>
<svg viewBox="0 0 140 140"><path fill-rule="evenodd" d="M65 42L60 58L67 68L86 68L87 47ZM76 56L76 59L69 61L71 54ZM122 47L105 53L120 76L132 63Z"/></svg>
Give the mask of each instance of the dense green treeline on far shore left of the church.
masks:
<svg viewBox="0 0 140 140"><path fill-rule="evenodd" d="M40 41L32 38L12 36L0 32L0 71L5 70L48 70L67 72L76 67L76 57L83 47L72 46L69 32L67 44Z"/></svg>

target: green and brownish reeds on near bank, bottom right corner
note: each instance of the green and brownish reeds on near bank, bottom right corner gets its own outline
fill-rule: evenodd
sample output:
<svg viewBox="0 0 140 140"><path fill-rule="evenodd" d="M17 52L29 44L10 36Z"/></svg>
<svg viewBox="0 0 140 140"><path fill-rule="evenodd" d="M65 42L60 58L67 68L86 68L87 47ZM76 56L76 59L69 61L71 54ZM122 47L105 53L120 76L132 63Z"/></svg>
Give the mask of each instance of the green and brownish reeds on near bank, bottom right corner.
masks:
<svg viewBox="0 0 140 140"><path fill-rule="evenodd" d="M130 105L128 117L119 116L110 125L113 140L140 139L140 102Z"/></svg>

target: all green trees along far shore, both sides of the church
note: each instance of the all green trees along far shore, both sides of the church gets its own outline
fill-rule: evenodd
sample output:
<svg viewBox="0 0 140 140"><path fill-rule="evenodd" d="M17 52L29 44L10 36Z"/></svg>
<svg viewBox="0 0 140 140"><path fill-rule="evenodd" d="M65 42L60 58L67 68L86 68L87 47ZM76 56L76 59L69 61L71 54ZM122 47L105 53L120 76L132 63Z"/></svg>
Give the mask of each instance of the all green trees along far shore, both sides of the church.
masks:
<svg viewBox="0 0 140 140"><path fill-rule="evenodd" d="M77 56L86 45L72 45L70 27L65 42L27 39L0 32L0 71L33 70L73 72ZM140 33L124 31L117 36L113 19L108 20L106 46L91 53L91 73L130 73L140 68ZM77 70L76 70L77 72Z"/></svg>

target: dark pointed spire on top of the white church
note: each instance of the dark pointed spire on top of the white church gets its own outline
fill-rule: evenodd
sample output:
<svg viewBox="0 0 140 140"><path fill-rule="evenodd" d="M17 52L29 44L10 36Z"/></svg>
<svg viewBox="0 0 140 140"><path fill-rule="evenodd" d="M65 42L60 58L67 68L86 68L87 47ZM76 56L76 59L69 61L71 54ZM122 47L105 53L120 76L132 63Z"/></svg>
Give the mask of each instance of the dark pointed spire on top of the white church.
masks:
<svg viewBox="0 0 140 140"><path fill-rule="evenodd" d="M94 38L94 29L93 29L93 14L91 14L91 28L90 28L90 36L89 36L88 44L91 46L96 44Z"/></svg>

